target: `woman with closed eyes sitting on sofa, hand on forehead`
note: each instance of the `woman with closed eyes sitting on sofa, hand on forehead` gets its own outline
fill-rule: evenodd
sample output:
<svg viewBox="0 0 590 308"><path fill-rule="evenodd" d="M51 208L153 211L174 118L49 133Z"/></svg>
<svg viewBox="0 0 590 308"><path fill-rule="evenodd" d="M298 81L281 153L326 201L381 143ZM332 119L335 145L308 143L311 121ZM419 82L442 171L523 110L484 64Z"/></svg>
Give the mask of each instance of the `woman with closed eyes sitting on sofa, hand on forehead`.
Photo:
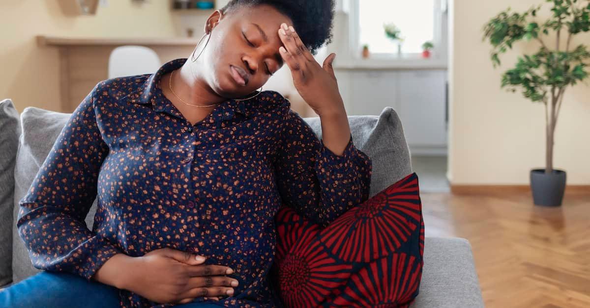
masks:
<svg viewBox="0 0 590 308"><path fill-rule="evenodd" d="M22 293L28 307L47 307L48 294L75 305L86 288L124 307L278 306L268 272L281 204L326 226L369 195L371 160L353 145L335 54L312 56L331 41L333 8L232 0L188 59L99 82L21 199L19 234L47 271L12 286L12 304ZM255 91L283 64L322 140L280 94Z"/></svg>

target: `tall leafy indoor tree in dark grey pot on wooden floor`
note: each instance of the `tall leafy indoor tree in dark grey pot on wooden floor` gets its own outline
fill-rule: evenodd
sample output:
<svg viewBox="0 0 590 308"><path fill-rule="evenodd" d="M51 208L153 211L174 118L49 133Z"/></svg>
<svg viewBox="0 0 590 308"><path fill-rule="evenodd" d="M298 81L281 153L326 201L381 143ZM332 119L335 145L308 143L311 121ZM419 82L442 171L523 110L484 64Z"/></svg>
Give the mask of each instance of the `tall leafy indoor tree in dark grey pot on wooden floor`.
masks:
<svg viewBox="0 0 590 308"><path fill-rule="evenodd" d="M494 67L500 65L499 54L512 49L517 41L526 39L540 46L534 54L517 57L515 67L503 73L501 87L508 87L512 92L520 88L530 101L545 105L545 169L530 171L530 186L536 205L560 206L566 172L553 168L553 138L566 88L588 77L585 61L590 59L590 52L584 44L572 46L571 42L573 35L590 30L590 4L578 0L546 2L551 2L551 14L544 22L535 21L542 5L523 13L508 8L484 25L483 40L488 38L493 47L490 58ZM551 45L550 32L555 33L555 44Z"/></svg>

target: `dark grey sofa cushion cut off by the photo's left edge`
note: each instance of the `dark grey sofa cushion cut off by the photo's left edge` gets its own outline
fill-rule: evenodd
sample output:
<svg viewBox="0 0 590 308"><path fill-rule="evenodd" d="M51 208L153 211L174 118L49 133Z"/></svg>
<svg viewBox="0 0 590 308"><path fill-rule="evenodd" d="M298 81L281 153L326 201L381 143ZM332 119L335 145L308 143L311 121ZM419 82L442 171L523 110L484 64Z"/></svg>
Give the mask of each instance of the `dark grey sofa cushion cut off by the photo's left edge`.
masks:
<svg viewBox="0 0 590 308"><path fill-rule="evenodd" d="M21 122L12 100L0 101L0 286L12 281L14 164Z"/></svg>

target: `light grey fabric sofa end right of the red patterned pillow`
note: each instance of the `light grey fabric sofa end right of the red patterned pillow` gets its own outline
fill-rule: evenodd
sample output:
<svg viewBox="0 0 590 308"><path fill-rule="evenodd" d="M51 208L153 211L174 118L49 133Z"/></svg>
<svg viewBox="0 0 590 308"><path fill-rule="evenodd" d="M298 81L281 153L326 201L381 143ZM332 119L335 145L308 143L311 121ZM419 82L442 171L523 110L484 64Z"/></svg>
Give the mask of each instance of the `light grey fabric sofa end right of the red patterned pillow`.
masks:
<svg viewBox="0 0 590 308"><path fill-rule="evenodd" d="M426 237L420 289L410 307L484 307L469 241Z"/></svg>

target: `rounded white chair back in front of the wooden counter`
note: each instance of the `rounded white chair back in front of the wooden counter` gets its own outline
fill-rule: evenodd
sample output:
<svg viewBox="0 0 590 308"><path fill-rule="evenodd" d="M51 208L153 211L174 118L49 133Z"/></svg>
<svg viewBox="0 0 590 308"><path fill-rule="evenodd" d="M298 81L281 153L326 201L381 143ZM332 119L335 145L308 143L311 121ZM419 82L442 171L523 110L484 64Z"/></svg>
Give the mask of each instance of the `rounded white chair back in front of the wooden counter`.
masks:
<svg viewBox="0 0 590 308"><path fill-rule="evenodd" d="M153 49L145 46L125 45L109 56L109 78L153 74L162 63Z"/></svg>

